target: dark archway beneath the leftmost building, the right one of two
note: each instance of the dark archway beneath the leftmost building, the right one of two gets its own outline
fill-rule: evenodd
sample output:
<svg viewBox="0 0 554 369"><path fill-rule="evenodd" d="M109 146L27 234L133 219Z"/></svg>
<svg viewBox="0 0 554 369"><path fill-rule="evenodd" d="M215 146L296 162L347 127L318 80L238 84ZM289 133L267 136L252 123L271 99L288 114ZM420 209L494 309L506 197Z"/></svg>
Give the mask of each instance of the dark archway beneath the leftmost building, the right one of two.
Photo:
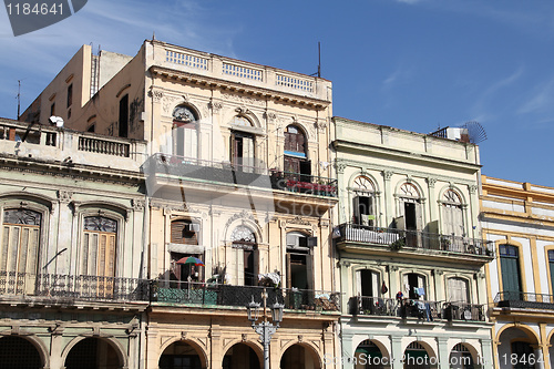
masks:
<svg viewBox="0 0 554 369"><path fill-rule="evenodd" d="M79 341L65 358L65 369L119 369L123 363L109 341L85 338Z"/></svg>

